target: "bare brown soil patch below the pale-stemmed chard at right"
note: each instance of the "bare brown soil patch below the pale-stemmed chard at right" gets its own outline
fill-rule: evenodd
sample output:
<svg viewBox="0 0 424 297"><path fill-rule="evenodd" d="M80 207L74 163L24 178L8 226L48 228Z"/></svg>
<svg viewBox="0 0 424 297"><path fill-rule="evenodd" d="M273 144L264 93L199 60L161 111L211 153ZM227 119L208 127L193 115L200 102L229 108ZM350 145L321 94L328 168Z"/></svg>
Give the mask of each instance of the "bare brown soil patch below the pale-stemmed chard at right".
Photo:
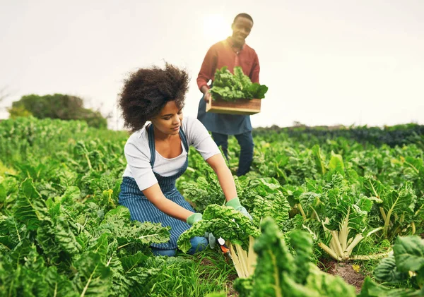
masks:
<svg viewBox="0 0 424 297"><path fill-rule="evenodd" d="M319 269L332 275L338 275L343 278L348 284L355 286L356 293L360 293L363 286L365 276L360 272L355 272L352 264L349 262L336 262L334 260L321 259Z"/></svg>

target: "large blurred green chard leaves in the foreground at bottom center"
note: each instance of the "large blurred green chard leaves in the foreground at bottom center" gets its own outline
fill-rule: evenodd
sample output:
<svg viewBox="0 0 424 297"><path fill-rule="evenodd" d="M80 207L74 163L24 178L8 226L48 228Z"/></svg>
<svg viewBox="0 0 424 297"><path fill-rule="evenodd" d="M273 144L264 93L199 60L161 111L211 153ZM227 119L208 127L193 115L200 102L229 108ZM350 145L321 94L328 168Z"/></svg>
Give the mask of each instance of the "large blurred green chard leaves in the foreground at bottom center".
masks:
<svg viewBox="0 0 424 297"><path fill-rule="evenodd" d="M318 269L310 262L312 239L303 231L290 232L295 256L285 245L283 235L271 218L261 224L262 234L254 243L257 267L252 281L235 282L237 291L249 297L355 296L355 288L340 277Z"/></svg>

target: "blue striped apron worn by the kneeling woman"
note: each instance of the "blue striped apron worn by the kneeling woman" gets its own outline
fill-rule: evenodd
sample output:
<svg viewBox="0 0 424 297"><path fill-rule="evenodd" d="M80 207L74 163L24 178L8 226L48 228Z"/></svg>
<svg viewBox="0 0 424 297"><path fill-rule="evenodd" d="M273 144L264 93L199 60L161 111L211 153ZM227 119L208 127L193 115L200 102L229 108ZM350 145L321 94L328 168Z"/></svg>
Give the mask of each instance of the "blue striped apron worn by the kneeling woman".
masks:
<svg viewBox="0 0 424 297"><path fill-rule="evenodd" d="M179 176L182 176L182 174L184 174L184 171L186 171L187 165L189 163L189 145L187 143L186 135L184 131L182 131L182 127L179 129L179 137L181 138L184 148L187 152L187 159L184 162L184 165L179 169L177 174L174 174L172 176L161 176L160 174L156 174L154 171L153 173L158 179L158 183L160 189L163 192L163 195L165 195L167 199L172 200L173 202L177 203L177 205L180 205L185 209L194 212L193 207L189 205L189 202L184 200L184 197L182 197L181 193L179 193L179 191L175 187L175 181L177 180L177 178L179 178ZM148 127L148 146L151 151L150 164L153 169L156 154L153 125L150 125ZM139 186L137 186L135 179L129 176L124 176L124 178L122 178L121 192L119 193L119 205L124 205L125 207L128 207L129 212L131 214L131 219L140 222L148 221L153 223L161 223L162 226L171 227L170 241L168 241L167 243L152 243L151 246L154 248L160 248L163 250L177 248L177 239L184 231L190 228L190 225L186 222L182 222L179 219L170 217L164 212L158 210L158 208L155 207L152 202L147 200L145 195L143 195L143 192L141 192Z"/></svg>

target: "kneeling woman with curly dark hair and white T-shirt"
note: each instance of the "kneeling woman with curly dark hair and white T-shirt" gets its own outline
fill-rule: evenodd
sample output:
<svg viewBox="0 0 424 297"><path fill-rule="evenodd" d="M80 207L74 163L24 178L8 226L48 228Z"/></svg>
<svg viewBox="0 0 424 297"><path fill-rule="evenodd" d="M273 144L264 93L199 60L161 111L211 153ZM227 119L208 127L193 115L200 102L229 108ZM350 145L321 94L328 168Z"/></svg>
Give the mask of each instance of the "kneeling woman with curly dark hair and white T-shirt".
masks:
<svg viewBox="0 0 424 297"><path fill-rule="evenodd" d="M206 128L194 117L183 119L188 84L187 73L167 63L164 69L141 68L131 73L119 97L124 124L133 133L124 148L127 165L119 204L129 208L131 219L171 226L170 241L152 244L155 255L175 255L178 237L201 220L201 214L175 188L175 180L187 169L190 145L216 172L226 205L249 216L237 198L230 169ZM147 121L151 123L145 126ZM191 242L189 253L208 244L204 237Z"/></svg>

